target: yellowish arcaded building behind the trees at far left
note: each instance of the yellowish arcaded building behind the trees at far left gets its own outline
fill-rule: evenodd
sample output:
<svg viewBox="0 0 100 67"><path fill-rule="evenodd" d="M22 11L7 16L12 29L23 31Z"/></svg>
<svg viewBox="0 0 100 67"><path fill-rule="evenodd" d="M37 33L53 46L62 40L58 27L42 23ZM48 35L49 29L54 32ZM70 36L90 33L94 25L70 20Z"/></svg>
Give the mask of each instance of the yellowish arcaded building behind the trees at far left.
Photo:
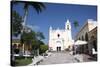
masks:
<svg viewBox="0 0 100 67"><path fill-rule="evenodd" d="M31 45L25 45L21 44L20 39L12 39L12 44L11 44L11 52L13 54L30 54L31 53Z"/></svg>

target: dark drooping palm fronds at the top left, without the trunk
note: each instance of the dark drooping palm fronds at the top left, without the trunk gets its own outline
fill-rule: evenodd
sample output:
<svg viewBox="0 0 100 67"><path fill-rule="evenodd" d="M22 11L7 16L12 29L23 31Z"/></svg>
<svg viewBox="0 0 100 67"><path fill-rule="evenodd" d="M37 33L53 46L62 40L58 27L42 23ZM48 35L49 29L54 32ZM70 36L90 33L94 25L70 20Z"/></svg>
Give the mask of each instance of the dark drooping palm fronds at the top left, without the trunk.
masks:
<svg viewBox="0 0 100 67"><path fill-rule="evenodd" d="M42 12L42 10L44 10L46 7L43 3L41 2L30 2L30 1L23 1L23 2L19 2L19 1L12 1L12 4L14 5L18 5L19 3L24 4L23 9L25 11L28 11L28 8L31 6L33 9L36 10L37 13Z"/></svg>

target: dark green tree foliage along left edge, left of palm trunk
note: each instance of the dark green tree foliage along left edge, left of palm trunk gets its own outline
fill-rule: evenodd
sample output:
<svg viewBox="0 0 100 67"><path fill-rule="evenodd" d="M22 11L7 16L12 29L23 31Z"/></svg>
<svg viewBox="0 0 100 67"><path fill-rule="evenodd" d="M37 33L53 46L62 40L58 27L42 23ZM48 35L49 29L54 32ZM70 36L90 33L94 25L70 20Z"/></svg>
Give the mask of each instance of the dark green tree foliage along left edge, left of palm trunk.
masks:
<svg viewBox="0 0 100 67"><path fill-rule="evenodd" d="M12 21L11 21L11 26L12 26L12 35L17 36L18 34L21 33L22 29L22 17L16 12L12 11Z"/></svg>

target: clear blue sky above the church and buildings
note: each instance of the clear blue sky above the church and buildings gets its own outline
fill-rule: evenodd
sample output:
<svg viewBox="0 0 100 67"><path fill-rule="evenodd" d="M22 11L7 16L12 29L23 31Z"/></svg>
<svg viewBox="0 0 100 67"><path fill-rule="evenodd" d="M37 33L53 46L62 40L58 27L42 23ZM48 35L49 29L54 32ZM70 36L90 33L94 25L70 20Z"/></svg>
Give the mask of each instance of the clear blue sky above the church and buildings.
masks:
<svg viewBox="0 0 100 67"><path fill-rule="evenodd" d="M72 26L72 37L76 35L80 27L86 22L87 19L97 20L97 7L89 5L74 5L74 4L55 4L55 3L44 3L46 9L37 14L35 9L29 8L28 17L26 24L35 31L43 32L45 36L45 43L48 43L49 38L49 27L53 29L65 28L65 22L67 19L71 22ZM24 14L23 5L19 4L13 8L21 16ZM79 22L79 28L74 28L73 22L77 20Z"/></svg>

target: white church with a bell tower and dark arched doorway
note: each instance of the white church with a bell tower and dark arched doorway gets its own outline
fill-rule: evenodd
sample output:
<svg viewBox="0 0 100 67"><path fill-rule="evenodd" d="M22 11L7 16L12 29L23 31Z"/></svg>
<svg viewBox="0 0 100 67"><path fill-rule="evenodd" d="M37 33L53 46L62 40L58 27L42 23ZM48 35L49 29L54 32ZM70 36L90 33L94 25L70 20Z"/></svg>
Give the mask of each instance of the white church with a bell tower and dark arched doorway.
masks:
<svg viewBox="0 0 100 67"><path fill-rule="evenodd" d="M49 28L49 50L63 51L70 49L73 45L71 34L71 23L69 20L65 22L65 29Z"/></svg>

